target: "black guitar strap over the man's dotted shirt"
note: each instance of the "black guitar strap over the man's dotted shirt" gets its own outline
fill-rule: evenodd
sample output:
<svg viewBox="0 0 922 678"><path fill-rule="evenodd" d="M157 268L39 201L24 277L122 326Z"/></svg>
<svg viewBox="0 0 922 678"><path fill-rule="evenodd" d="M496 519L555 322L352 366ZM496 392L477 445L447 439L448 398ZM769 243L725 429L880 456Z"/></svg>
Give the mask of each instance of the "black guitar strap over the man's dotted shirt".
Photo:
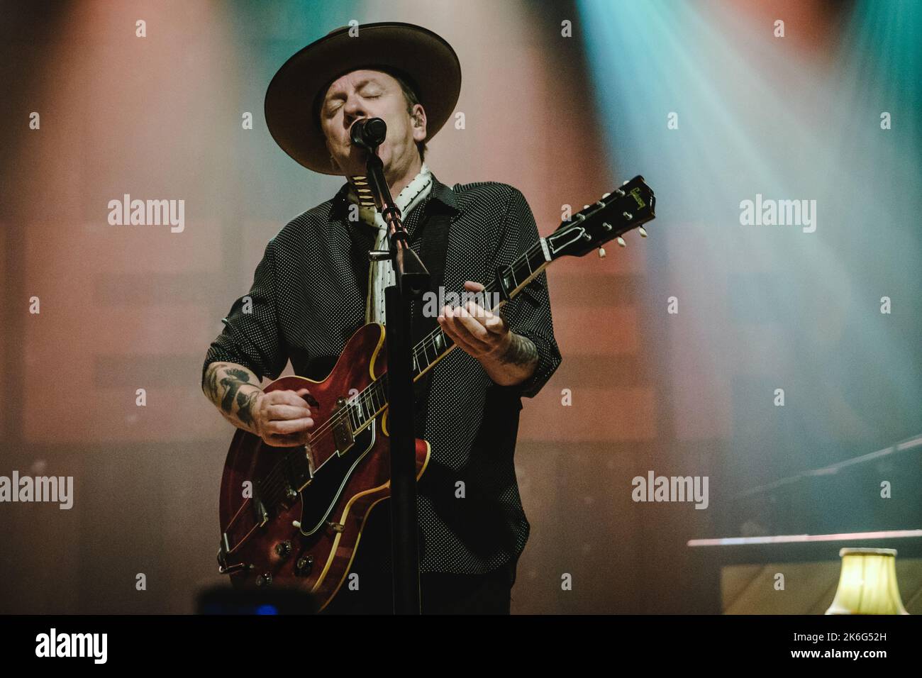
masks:
<svg viewBox="0 0 922 678"><path fill-rule="evenodd" d="M429 213L419 227L422 238L420 259L423 266L429 271L430 290L438 294L439 288L444 284L445 258L448 254L448 232L452 223L452 213L442 208L437 201L429 200L426 207ZM439 327L439 321L436 316L425 317L422 314L423 308L426 306L424 299L415 300L412 306L413 315L410 319L410 337L412 345L416 346L435 327ZM416 437L418 438L425 437L432 369L434 367L413 384L415 396L413 421Z"/></svg>

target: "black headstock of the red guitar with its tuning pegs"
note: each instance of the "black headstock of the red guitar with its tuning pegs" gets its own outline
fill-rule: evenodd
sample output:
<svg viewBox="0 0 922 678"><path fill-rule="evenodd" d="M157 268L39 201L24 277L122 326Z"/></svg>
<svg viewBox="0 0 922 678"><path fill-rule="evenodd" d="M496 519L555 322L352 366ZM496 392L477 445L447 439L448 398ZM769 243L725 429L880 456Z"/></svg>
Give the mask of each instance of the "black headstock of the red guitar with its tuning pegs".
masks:
<svg viewBox="0 0 922 678"><path fill-rule="evenodd" d="M656 218L655 208L653 189L638 174L574 214L573 219L563 221L557 231L545 239L550 258L584 256L615 238L623 246L621 236L633 229L639 229L641 236L646 237L643 225ZM605 256L604 249L599 250L599 256Z"/></svg>

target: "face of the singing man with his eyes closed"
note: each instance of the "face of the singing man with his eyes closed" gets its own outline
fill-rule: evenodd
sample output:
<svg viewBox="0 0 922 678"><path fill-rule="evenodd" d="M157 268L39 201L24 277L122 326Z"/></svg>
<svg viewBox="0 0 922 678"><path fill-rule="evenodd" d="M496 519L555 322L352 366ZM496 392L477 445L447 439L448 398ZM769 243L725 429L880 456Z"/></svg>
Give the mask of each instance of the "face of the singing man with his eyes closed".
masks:
<svg viewBox="0 0 922 678"><path fill-rule="evenodd" d="M326 148L337 167L347 176L367 172L367 151L353 146L349 128L361 118L382 118L387 123L387 137L378 147L385 176L400 176L419 160L416 142L426 138L426 113L418 103L412 113L407 110L400 83L377 70L358 70L340 77L326 90L320 107L320 125Z"/></svg>

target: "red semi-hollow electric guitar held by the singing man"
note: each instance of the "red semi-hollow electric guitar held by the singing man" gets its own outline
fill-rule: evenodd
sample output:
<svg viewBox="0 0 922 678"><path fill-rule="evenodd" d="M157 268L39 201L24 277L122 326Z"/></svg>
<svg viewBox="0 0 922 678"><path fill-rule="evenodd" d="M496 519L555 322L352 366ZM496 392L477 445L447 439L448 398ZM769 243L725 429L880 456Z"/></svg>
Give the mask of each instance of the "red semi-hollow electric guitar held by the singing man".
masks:
<svg viewBox="0 0 922 678"><path fill-rule="evenodd" d="M539 238L502 268L485 292L498 310L561 256L584 256L656 217L642 176L625 182ZM219 571L235 587L289 586L310 591L323 609L355 556L372 508L390 496L384 326L361 327L324 381L285 376L264 390L308 388L314 428L309 446L274 447L238 429L221 478ZM413 378L455 348L436 327L413 348ZM416 441L417 479L429 443Z"/></svg>

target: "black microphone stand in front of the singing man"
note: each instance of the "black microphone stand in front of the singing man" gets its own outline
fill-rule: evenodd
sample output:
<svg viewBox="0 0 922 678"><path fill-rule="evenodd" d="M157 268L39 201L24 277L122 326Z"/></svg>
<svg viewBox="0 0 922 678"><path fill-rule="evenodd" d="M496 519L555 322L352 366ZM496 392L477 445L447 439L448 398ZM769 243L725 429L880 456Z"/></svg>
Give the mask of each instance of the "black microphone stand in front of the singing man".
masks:
<svg viewBox="0 0 922 678"><path fill-rule="evenodd" d="M409 248L400 209L384 179L378 147L368 148L368 183L387 222L388 250L372 250L369 259L390 259L396 285L384 290L387 323L387 428L391 438L391 556L394 613L420 614L420 545L417 526L416 434L413 424L413 372L410 302L429 289L429 271Z"/></svg>

